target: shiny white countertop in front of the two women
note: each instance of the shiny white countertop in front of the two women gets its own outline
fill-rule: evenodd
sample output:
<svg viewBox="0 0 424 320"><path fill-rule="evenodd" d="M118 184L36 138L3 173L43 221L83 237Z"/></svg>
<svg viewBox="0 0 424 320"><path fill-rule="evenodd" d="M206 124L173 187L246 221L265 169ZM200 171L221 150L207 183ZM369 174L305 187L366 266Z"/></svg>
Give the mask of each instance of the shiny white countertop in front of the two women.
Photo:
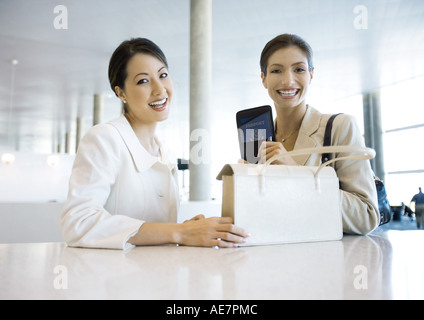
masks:
<svg viewBox="0 0 424 320"><path fill-rule="evenodd" d="M0 299L423 299L424 231L237 249L0 244Z"/></svg>

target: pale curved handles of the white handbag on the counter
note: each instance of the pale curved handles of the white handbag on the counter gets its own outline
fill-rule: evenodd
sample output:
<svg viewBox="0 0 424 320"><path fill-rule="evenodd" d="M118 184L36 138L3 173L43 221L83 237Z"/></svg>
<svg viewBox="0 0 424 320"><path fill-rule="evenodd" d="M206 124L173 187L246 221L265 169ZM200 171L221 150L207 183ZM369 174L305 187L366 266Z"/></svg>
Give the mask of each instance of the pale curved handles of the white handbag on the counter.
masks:
<svg viewBox="0 0 424 320"><path fill-rule="evenodd" d="M309 155L314 153L321 153L321 154L322 153L354 153L349 156L330 159L322 163L314 173L314 178L315 178L315 183L317 188L319 188L319 180L317 179L318 174L321 171L321 169L324 168L325 166L339 160L367 160L367 159L372 159L375 157L374 149L359 147L359 146L327 146L327 147L318 147L318 148L304 148L304 149L292 150L284 154L277 154L271 157L270 159L268 159L265 162L265 164L262 164L262 165L259 164L258 165L259 175L262 176L262 179L263 179L263 175L265 173L266 168L275 160L282 159L285 157L296 157L296 156L303 156L303 155Z"/></svg>

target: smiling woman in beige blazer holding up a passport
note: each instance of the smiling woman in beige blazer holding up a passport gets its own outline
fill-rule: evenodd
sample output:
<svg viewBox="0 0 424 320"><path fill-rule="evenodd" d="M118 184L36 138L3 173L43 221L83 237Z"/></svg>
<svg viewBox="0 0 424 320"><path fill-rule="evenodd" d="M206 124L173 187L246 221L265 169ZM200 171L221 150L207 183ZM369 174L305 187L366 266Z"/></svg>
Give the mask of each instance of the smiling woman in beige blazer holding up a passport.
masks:
<svg viewBox="0 0 424 320"><path fill-rule="evenodd" d="M267 43L262 51L261 77L274 101L276 141L264 142L261 160L294 149L320 147L330 115L306 104L314 67L312 50L300 37L282 34ZM355 119L341 114L334 120L332 145L365 146ZM339 155L335 155L338 157ZM274 164L315 166L321 155L284 157ZM377 192L369 161L344 160L334 163L340 181L340 199L345 233L367 234L379 225Z"/></svg>

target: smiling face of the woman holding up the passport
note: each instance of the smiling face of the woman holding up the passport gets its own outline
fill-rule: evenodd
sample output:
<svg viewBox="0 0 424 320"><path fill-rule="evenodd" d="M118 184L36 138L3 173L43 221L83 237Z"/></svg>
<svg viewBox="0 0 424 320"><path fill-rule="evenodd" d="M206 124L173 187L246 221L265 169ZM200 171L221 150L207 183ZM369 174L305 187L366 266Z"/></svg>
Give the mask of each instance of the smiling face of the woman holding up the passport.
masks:
<svg viewBox="0 0 424 320"><path fill-rule="evenodd" d="M308 59L296 46L279 49L268 59L262 83L276 108L306 107L306 96L313 77Z"/></svg>

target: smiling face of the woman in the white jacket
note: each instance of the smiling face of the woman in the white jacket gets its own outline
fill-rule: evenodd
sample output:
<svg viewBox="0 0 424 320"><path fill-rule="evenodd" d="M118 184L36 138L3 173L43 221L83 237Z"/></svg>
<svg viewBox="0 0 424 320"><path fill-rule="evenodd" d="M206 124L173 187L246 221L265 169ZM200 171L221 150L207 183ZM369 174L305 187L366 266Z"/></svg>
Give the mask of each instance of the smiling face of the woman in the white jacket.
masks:
<svg viewBox="0 0 424 320"><path fill-rule="evenodd" d="M168 118L173 84L163 62L150 54L136 54L127 64L125 90L116 87L127 103L128 116L151 123Z"/></svg>

